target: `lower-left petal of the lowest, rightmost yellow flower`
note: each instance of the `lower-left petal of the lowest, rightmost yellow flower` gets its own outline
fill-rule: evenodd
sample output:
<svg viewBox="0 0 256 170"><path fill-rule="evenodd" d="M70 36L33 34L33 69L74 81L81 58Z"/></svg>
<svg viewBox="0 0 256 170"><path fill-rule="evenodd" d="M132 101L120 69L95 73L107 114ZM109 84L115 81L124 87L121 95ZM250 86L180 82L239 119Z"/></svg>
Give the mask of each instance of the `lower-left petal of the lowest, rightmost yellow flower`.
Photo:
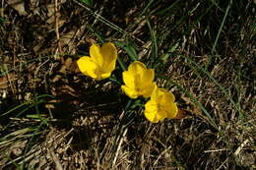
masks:
<svg viewBox="0 0 256 170"><path fill-rule="evenodd" d="M150 122L152 123L159 122L157 112L158 112L158 103L150 100L145 104L144 115Z"/></svg>

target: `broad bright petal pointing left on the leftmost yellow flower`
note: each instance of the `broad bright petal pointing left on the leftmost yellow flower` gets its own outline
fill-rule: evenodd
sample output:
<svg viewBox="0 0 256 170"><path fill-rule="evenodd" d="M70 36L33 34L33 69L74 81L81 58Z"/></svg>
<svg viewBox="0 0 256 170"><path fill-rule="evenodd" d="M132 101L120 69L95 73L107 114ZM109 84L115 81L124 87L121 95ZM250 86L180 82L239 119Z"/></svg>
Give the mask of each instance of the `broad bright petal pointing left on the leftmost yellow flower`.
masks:
<svg viewBox="0 0 256 170"><path fill-rule="evenodd" d="M86 76L97 79L98 75L98 66L92 61L90 57L81 57L78 61L79 70Z"/></svg>

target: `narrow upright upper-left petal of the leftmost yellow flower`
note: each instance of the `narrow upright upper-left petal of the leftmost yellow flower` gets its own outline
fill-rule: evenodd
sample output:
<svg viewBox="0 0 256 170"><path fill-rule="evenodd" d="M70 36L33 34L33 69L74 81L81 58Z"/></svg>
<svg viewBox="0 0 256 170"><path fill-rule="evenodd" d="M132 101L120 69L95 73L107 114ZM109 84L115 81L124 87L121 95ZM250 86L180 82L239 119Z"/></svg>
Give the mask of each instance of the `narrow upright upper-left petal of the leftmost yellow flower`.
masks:
<svg viewBox="0 0 256 170"><path fill-rule="evenodd" d="M103 57L101 55L100 52L100 46L97 45L96 43L94 43L91 47L90 47L90 56L92 58L92 60L99 66L102 67L103 66Z"/></svg>

